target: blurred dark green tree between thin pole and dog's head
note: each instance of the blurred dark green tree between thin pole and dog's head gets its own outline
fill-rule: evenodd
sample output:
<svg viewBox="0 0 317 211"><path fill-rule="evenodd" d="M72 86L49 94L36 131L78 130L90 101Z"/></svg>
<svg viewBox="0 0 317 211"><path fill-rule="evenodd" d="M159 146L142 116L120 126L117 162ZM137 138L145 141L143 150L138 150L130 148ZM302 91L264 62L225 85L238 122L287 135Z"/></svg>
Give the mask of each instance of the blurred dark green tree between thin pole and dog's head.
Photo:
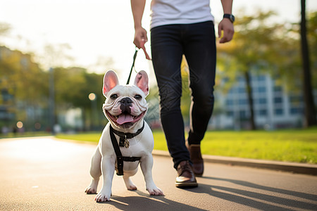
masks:
<svg viewBox="0 0 317 211"><path fill-rule="evenodd" d="M54 84L56 112L69 108L81 108L82 117L85 125L94 123L97 125L101 120L101 106L105 100L102 94L103 75L88 73L85 68L54 68ZM94 93L97 96L97 111L99 111L95 120L92 118L92 102L89 101L89 94ZM98 109L99 108L99 109ZM105 122L105 121L103 121Z"/></svg>

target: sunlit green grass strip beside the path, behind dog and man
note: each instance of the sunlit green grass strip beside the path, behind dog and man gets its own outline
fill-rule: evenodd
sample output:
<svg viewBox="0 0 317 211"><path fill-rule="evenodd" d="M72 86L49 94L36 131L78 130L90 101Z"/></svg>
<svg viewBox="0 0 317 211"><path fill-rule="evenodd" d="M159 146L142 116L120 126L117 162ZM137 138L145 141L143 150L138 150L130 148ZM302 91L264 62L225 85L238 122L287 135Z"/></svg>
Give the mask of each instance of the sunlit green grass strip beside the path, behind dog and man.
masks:
<svg viewBox="0 0 317 211"><path fill-rule="evenodd" d="M154 131L154 149L167 151L163 132ZM100 133L58 134L58 139L98 142ZM264 131L206 132L201 152L239 158L317 164L317 128Z"/></svg>

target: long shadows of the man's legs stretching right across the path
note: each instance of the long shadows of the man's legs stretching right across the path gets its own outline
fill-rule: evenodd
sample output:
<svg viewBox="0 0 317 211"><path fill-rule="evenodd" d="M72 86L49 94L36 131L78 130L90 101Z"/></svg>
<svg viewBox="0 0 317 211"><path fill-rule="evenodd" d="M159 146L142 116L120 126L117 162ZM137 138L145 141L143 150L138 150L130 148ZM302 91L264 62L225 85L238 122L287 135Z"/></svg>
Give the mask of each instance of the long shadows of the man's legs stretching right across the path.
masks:
<svg viewBox="0 0 317 211"><path fill-rule="evenodd" d="M301 193L297 191L289 191L280 188L274 188L270 186L261 186L248 181L235 180L235 179L223 179L216 177L203 177L204 179L213 179L220 181L228 181L233 184L238 184L240 186L256 188L259 191L271 191L275 196L259 193L259 191L246 191L245 188L230 188L227 186L213 186L207 184L199 184L198 188L188 189L193 193L208 193L210 196L221 198L223 200L228 200L233 203L246 205L253 207L255 209L261 210L290 210L291 209L302 209L305 207L309 210L317 210L317 196L309 193ZM276 196L278 195L280 196ZM284 195L285 197L282 197ZM296 197L298 200L287 198ZM303 201L311 200L312 203ZM282 205L283 207L279 206ZM290 207L290 208L285 208Z"/></svg>

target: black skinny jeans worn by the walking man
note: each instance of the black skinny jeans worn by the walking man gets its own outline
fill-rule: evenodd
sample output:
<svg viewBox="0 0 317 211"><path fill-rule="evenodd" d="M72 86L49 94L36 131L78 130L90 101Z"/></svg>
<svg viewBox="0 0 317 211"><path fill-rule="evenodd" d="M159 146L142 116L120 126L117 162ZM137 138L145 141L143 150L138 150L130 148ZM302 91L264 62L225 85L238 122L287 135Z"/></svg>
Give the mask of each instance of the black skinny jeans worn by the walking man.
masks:
<svg viewBox="0 0 317 211"><path fill-rule="evenodd" d="M216 73L213 22L163 25L151 29L151 55L159 86L161 123L175 168L182 160L190 160L180 112L180 64L183 54L189 65L189 87L192 91L188 142L199 144L213 112Z"/></svg>

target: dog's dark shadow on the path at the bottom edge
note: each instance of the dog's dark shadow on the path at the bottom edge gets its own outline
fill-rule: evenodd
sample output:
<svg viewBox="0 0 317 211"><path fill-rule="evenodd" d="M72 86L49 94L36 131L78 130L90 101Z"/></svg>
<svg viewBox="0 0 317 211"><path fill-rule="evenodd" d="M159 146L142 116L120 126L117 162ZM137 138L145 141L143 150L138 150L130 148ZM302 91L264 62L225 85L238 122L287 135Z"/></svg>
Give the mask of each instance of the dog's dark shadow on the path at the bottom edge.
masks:
<svg viewBox="0 0 317 211"><path fill-rule="evenodd" d="M149 196L149 193L133 191L139 196L116 196L104 202L115 206L118 210L201 210L191 205L185 205L165 198L165 196ZM104 204L100 203L100 204Z"/></svg>

